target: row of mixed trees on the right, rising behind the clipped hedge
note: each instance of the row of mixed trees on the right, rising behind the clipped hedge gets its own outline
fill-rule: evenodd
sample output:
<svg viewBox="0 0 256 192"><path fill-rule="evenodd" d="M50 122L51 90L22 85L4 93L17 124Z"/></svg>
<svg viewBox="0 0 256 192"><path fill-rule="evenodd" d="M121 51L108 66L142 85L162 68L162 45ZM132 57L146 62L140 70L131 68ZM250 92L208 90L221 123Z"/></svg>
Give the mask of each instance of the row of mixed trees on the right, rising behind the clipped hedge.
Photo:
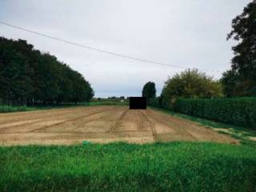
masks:
<svg viewBox="0 0 256 192"><path fill-rule="evenodd" d="M227 40L230 38L238 41L238 45L233 47L231 69L224 72L220 80L189 69L169 78L160 97L154 94L154 82L146 83L142 95L146 95L151 105L167 108L177 98L256 97L256 0L234 18Z"/></svg>

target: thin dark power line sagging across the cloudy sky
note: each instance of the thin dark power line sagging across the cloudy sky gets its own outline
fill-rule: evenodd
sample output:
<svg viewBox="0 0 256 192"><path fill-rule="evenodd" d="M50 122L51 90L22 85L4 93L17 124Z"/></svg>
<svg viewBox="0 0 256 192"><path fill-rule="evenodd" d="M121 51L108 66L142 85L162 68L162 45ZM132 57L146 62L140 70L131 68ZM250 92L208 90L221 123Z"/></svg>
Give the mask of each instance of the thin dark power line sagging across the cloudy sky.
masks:
<svg viewBox="0 0 256 192"><path fill-rule="evenodd" d="M104 53L104 54L114 55L114 56L120 57L120 58L129 58L129 59L132 59L132 60L135 60L135 61L138 61L138 62L147 62L147 63L151 63L151 64L155 64L155 65L170 66L170 67L180 68L180 69L188 69L188 67L186 67L186 66L170 65L170 64L163 63L163 62L155 62L155 61L151 61L151 60L147 60L147 59L143 59L143 58L135 58L135 57L132 57L132 56L129 56L129 55L126 55L126 54L118 54L118 53L107 51L107 50L101 50L101 49L98 49L98 48L93 47L93 46L85 46L85 45L79 44L77 42L70 42L70 41L62 39L62 38L55 38L55 37L50 36L48 34L42 34L42 33L38 33L37 31L34 31L34 30L28 30L28 29L23 28L21 26L14 26L14 25L12 25L10 23L7 23L7 22L0 21L0 23L2 25L10 26L10 27L13 27L13 28L18 29L18 30L23 30L23 31L29 32L31 34L37 34L37 35L45 37L45 38L50 38L50 39L53 39L53 40L58 41L58 42L65 42L65 43L73 45L73 46L79 46L79 47L82 47L82 48L86 48L88 50L94 50L94 51L98 51L98 52L101 52L101 53ZM210 72L220 73L219 70L202 70L202 71L210 71Z"/></svg>

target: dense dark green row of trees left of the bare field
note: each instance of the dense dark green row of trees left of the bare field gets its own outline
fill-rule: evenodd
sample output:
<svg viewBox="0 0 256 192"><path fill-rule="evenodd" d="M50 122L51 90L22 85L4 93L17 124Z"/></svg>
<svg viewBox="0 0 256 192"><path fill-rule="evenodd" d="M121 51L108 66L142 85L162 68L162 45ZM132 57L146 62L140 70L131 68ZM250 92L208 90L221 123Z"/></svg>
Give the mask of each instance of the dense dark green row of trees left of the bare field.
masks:
<svg viewBox="0 0 256 192"><path fill-rule="evenodd" d="M25 40L0 37L0 102L51 105L89 102L94 90L82 74Z"/></svg>

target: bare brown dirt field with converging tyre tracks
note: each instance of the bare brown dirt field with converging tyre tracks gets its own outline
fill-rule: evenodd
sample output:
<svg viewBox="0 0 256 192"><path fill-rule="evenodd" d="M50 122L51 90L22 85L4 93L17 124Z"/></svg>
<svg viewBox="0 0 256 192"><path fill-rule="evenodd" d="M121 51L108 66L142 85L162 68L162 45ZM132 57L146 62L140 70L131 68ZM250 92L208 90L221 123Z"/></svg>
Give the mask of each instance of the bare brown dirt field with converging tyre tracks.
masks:
<svg viewBox="0 0 256 192"><path fill-rule="evenodd" d="M91 142L213 141L237 143L194 122L156 110L90 106L0 114L0 145Z"/></svg>

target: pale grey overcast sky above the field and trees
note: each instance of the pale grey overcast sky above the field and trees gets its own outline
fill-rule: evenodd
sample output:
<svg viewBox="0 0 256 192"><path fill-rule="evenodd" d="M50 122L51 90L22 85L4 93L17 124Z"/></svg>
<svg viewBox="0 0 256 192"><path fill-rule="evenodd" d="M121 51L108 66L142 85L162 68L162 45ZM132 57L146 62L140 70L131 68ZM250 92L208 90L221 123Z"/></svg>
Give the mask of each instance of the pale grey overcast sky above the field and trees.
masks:
<svg viewBox="0 0 256 192"><path fill-rule="evenodd" d="M251 0L0 0L0 21L85 46L182 68L119 58L0 24L0 36L25 39L78 70L96 97L157 94L174 74L198 68L218 79L230 69L232 19ZM184 69L183 69L184 68Z"/></svg>

